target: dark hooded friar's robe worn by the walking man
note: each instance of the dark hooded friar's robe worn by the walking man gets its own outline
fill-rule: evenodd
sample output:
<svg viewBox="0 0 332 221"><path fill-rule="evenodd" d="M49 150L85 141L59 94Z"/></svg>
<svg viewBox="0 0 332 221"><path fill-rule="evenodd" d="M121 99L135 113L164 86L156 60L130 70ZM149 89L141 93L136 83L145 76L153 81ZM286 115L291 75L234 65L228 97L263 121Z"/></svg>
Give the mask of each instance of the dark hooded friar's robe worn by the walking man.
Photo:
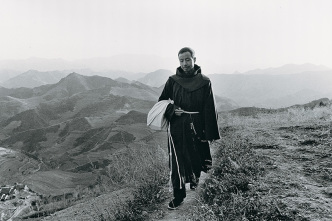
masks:
<svg viewBox="0 0 332 221"><path fill-rule="evenodd" d="M171 181L174 189L183 189L185 183L195 182L201 171L212 165L209 143L220 138L217 112L210 79L201 73L198 65L191 74L181 67L169 77L159 101L171 99L165 117L170 122ZM175 115L175 109L195 114Z"/></svg>

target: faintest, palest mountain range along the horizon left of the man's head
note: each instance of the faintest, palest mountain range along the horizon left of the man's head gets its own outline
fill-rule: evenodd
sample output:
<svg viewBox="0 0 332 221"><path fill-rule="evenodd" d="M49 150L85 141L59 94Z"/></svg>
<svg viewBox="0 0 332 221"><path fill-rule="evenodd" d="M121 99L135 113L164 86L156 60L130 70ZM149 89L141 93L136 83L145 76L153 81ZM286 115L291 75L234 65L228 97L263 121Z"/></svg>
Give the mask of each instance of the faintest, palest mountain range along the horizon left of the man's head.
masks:
<svg viewBox="0 0 332 221"><path fill-rule="evenodd" d="M0 60L0 70L16 71L50 71L50 70L78 70L92 69L96 72L152 72L157 69L171 69L177 65L174 59L158 55L119 54L111 57L100 57L68 61L64 59L28 58L22 60ZM0 72L1 73L1 72Z"/></svg>

